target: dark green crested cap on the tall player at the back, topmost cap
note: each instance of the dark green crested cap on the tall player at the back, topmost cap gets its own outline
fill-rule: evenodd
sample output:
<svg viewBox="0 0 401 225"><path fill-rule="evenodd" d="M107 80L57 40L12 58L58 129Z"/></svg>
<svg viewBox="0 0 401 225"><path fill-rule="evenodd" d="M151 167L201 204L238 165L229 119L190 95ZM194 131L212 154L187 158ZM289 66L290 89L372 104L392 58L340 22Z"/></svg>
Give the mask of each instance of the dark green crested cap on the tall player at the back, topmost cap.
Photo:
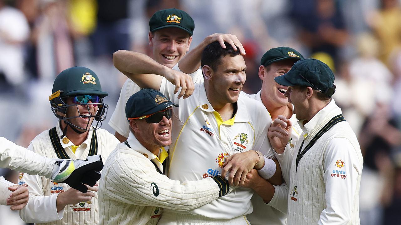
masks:
<svg viewBox="0 0 401 225"><path fill-rule="evenodd" d="M177 27L185 30L192 36L195 28L194 20L188 15L188 13L176 9L169 8L157 11L149 20L149 30L154 32L168 27Z"/></svg>

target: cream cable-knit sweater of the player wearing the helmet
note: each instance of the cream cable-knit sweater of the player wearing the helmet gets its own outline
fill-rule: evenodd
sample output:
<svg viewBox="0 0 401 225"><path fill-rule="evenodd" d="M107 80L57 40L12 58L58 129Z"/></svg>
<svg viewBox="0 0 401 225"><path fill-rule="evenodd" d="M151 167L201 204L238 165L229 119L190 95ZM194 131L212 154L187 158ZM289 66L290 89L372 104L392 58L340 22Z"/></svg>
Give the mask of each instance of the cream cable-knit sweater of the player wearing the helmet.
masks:
<svg viewBox="0 0 401 225"><path fill-rule="evenodd" d="M57 135L60 137L60 126L57 123ZM71 159L86 159L89 153L93 131L89 131L87 139L78 147L75 154L71 150L73 143L63 143L62 147ZM113 151L119 141L109 132L103 129L97 129L97 154L101 155L103 162ZM43 131L36 136L30 143L28 149L49 158L57 158L49 138L49 130ZM78 152L81 155L77 157ZM53 183L50 179L20 174L18 184L26 185L29 190L29 201L26 207L20 210L20 217L28 223L43 225L94 225L99 223L98 194L91 201L85 201L76 205L67 205L64 210L57 212L57 195L67 191L70 187L67 184Z"/></svg>

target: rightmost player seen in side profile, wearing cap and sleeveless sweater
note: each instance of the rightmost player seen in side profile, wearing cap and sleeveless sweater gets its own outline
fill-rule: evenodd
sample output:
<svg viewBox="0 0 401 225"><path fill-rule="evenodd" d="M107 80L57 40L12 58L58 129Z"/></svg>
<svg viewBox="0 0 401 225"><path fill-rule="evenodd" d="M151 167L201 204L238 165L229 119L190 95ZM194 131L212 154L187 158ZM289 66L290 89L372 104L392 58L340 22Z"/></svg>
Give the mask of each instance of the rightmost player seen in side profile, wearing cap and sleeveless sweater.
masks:
<svg viewBox="0 0 401 225"><path fill-rule="evenodd" d="M291 121L278 117L268 133L274 150L292 159L288 224L360 224L363 158L355 133L331 98L333 72L308 58L274 80L289 86L285 96L303 131L294 156L285 149Z"/></svg>

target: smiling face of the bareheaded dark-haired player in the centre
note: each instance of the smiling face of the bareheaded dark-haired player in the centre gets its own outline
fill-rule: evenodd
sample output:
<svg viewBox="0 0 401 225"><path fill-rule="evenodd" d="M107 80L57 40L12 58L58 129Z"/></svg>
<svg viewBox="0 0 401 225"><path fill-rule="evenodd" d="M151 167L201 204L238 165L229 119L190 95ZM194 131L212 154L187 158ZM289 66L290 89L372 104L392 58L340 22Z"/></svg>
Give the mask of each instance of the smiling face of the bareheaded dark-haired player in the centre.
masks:
<svg viewBox="0 0 401 225"><path fill-rule="evenodd" d="M208 96L211 96L216 104L237 102L246 80L246 65L243 56L223 56L216 67L213 70L209 66L203 66ZM209 101L212 103L211 99Z"/></svg>

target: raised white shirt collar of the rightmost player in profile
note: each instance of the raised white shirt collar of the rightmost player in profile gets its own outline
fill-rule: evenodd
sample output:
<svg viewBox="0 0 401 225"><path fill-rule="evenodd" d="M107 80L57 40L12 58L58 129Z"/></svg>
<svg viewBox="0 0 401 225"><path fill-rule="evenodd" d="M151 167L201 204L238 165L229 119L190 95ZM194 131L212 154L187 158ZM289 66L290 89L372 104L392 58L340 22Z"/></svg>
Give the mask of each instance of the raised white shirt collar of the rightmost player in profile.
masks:
<svg viewBox="0 0 401 225"><path fill-rule="evenodd" d="M305 133L304 138L306 138L320 124L320 122L333 111L338 111L338 113L341 113L341 109L336 105L334 99L332 99L326 106L324 106L324 108L317 112L316 115L314 115L312 119L305 125L302 124L305 120L299 120L298 124Z"/></svg>

